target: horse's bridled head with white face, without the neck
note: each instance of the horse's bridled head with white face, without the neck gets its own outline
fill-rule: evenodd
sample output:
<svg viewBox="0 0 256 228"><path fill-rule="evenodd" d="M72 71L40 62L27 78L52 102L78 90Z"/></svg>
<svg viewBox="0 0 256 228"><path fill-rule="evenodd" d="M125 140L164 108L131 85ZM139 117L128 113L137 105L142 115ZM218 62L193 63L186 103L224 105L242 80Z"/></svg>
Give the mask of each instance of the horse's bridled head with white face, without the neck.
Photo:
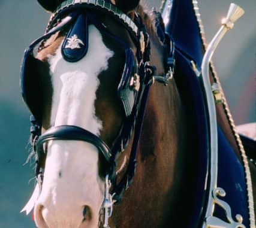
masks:
<svg viewBox="0 0 256 228"><path fill-rule="evenodd" d="M52 13L63 2L69 3L38 2ZM42 133L35 139L41 192L34 217L40 228L97 227L104 202L113 203L109 179L128 163L130 150L125 147L131 149L129 138L140 111L140 66L144 72L149 41L146 32L134 31L139 1L116 0L104 7L114 4L116 10L129 14L124 19L128 29L94 8L73 8L56 20L53 15L50 35L42 39L33 60L34 81L41 84L37 89L30 85L31 89L28 78L23 82L27 94L37 90L41 95L28 104ZM67 25L62 28L62 23ZM163 71L160 66L158 71ZM119 151L124 153L116 160ZM105 208L107 213L111 209L112 205Z"/></svg>

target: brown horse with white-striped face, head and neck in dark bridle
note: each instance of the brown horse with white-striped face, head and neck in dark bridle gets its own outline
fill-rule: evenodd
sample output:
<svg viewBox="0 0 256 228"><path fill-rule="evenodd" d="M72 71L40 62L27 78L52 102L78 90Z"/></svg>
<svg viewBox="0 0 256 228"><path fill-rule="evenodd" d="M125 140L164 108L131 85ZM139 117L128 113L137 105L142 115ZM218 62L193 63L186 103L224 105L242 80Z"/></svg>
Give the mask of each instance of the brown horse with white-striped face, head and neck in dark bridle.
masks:
<svg viewBox="0 0 256 228"><path fill-rule="evenodd" d="M53 14L22 68L37 227L201 226L207 172L159 14L139 0L38 2Z"/></svg>

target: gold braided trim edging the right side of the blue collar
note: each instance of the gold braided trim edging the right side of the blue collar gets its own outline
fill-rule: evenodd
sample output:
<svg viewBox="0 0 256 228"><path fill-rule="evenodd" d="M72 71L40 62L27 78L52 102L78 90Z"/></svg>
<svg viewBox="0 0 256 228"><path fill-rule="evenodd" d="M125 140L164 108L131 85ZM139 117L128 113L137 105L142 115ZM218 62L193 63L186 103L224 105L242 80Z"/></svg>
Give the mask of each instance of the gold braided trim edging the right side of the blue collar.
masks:
<svg viewBox="0 0 256 228"><path fill-rule="evenodd" d="M194 5L195 16L197 17L198 27L200 29L201 41L203 43L204 50L206 50L206 47L207 47L206 37L204 33L203 23L201 22L201 15L199 13L197 0L192 0L192 4ZM250 228L255 228L254 199L253 199L253 193L252 193L252 180L251 180L251 172L248 165L248 158L245 154L245 149L243 148L243 144L240 139L240 136L236 130L233 117L230 113L230 109L228 108L227 99L225 98L223 89L221 87L221 83L219 81L218 75L216 73L216 70L212 61L210 62L210 70L212 71L213 80L215 81L215 83L219 85L219 88L221 90L222 99L223 99L222 106L224 108L226 117L228 119L228 123L230 124L230 128L233 132L234 138L236 140L237 147L239 148L240 156L242 157L243 168L245 169L245 180L246 180L246 187L247 187L246 190L248 194Z"/></svg>

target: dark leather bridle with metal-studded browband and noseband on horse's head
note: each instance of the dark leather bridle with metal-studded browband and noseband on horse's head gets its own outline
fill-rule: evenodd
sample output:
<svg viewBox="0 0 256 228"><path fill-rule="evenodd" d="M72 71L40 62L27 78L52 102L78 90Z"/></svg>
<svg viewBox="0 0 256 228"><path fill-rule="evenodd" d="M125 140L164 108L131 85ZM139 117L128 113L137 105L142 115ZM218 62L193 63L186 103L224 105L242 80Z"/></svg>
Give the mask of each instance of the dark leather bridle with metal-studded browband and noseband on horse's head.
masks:
<svg viewBox="0 0 256 228"><path fill-rule="evenodd" d="M98 20L91 10L102 11L112 17L116 22L121 23L129 32L132 41L137 47L137 53L134 54L131 47L121 38L112 34L103 23ZM150 86L154 81L168 83L172 77L174 69L174 45L167 36L168 42L167 61L165 63L165 75L154 75L155 67L150 65L150 41L146 28L138 14L135 14L135 19L132 21L127 14L122 13L115 5L104 0L67 0L62 2L50 18L46 29L46 34L32 42L26 49L21 69L21 87L22 96L28 107L32 110L32 104L29 104L28 95L26 94L27 79L26 74L29 67L28 59L33 57L33 50L36 45L40 44L40 49L43 48L43 42L51 35L65 28L69 29L67 41L72 35L76 34L81 22L86 22L85 26L92 23L97 29L107 36L115 39L125 50L125 66L122 73L117 92L122 101L125 110L125 120L122 124L118 137L115 139L112 148L97 135L82 129L78 126L62 125L51 127L41 135L41 120L37 114L32 112L31 117L31 144L35 153L35 176L38 183L43 183L44 168L41 161L45 156L43 145L52 140L74 140L85 141L97 147L98 151L103 154L107 163L106 183L104 202L101 208L103 212L103 226L109 227L108 220L112 214L113 203L118 202L122 198L122 194L131 184L136 168L136 155L138 142L143 126L144 111L146 109L147 98L149 95ZM85 37L86 39L86 37ZM42 42L43 41L43 42ZM165 41L166 42L166 41ZM62 45L62 56L68 62L77 62L86 54L86 47L82 50L65 50L65 45ZM128 162L128 168L121 181L116 181L116 156L125 150L129 139L134 133L131 153Z"/></svg>

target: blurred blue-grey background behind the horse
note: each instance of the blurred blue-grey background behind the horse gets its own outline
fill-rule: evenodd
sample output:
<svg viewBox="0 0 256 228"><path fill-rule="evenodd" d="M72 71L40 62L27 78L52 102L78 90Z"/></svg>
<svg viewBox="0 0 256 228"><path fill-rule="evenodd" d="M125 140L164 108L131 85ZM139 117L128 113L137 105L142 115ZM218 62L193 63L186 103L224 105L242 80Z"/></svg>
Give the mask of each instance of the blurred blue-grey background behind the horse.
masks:
<svg viewBox="0 0 256 228"><path fill-rule="evenodd" d="M160 1L148 1L149 7ZM234 1L245 16L222 40L214 60L236 123L255 121L256 2ZM202 19L209 41L227 13L230 1L201 0ZM49 14L35 0L0 0L0 227L32 228L31 216L19 211L34 187L28 156L29 113L20 95L19 71L23 52L43 34ZM254 84L253 84L254 83ZM254 85L254 86L253 86ZM251 88L251 89L250 89Z"/></svg>

